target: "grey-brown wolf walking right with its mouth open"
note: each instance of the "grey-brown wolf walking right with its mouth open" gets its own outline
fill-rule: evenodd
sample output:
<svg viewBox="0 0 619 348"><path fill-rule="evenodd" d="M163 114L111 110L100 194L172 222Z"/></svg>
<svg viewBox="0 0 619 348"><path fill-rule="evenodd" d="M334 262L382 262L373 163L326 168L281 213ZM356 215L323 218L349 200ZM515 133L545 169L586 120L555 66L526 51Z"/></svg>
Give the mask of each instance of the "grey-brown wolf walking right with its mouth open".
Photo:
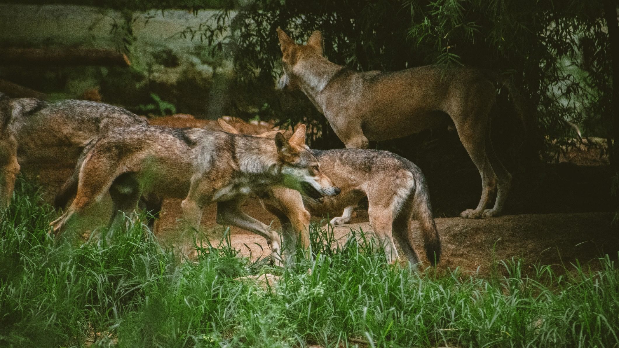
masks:
<svg viewBox="0 0 619 348"><path fill-rule="evenodd" d="M218 224L266 238L279 262L277 232L241 211L249 195L271 185L295 189L316 202L340 192L305 145L305 125L289 140L279 133L265 139L198 128L117 128L90 150L79 169L76 198L51 225L54 233L63 232L108 191L114 205L111 230L123 221L118 213L131 213L145 193L183 199L183 220L194 229L202 209L217 202Z"/></svg>

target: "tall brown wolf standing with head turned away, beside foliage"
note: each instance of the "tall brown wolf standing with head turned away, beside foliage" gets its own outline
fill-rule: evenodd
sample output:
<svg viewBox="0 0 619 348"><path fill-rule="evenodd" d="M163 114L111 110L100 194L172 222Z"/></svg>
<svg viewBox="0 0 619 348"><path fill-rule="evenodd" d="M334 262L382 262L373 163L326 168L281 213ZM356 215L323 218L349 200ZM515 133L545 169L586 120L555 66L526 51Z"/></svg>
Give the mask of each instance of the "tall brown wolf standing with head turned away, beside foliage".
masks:
<svg viewBox="0 0 619 348"><path fill-rule="evenodd" d="M420 66L402 71L357 72L322 56L322 34L314 32L306 45L297 45L277 29L284 75L280 87L298 88L307 95L347 148L363 149L368 140L382 141L443 124L450 117L462 144L482 176L482 197L462 217L501 214L511 175L496 157L490 142L490 108L495 83L503 82L517 101L521 97L509 80L480 69ZM497 190L495 206L485 209Z"/></svg>

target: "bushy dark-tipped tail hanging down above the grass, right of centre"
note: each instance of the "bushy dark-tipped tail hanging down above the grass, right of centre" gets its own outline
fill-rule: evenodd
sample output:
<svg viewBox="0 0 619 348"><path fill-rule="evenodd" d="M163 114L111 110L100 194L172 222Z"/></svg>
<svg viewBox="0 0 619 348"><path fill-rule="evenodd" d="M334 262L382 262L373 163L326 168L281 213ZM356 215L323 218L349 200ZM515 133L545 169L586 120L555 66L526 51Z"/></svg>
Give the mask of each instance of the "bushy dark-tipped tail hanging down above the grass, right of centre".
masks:
<svg viewBox="0 0 619 348"><path fill-rule="evenodd" d="M428 185L426 185L423 174L417 176L417 188L415 188L413 194L413 212L417 216L419 228L422 232L426 257L430 264L435 266L441 259L441 240L438 236L438 230L436 230Z"/></svg>

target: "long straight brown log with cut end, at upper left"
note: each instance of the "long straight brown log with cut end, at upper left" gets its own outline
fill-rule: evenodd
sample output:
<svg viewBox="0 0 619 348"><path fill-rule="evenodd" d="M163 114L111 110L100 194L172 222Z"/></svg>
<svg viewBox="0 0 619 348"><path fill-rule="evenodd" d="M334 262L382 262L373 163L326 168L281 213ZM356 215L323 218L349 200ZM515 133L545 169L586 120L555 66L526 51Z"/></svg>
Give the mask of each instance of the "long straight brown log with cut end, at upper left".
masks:
<svg viewBox="0 0 619 348"><path fill-rule="evenodd" d="M0 48L0 65L8 66L130 66L121 52L98 48Z"/></svg>

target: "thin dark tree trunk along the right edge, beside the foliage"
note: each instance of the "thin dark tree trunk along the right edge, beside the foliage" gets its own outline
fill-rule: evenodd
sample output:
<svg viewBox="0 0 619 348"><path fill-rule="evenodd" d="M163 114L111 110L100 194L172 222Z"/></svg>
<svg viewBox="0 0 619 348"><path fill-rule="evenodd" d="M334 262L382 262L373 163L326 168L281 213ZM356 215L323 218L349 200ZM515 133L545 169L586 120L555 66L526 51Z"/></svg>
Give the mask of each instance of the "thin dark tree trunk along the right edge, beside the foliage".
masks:
<svg viewBox="0 0 619 348"><path fill-rule="evenodd" d="M617 25L616 0L604 0L604 17L610 39L610 61L612 66L612 94L610 117L613 129L610 135L615 140L615 146L610 149L610 164L619 171L619 27Z"/></svg>

